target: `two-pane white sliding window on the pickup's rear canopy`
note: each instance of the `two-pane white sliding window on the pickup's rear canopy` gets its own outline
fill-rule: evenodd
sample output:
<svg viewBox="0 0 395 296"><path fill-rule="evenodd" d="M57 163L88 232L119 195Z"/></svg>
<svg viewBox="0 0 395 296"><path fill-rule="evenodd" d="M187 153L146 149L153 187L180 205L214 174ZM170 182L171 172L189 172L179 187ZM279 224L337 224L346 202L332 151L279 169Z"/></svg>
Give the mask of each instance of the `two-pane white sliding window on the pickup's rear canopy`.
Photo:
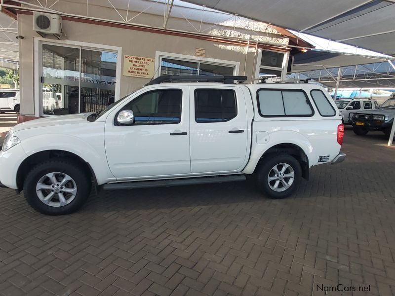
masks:
<svg viewBox="0 0 395 296"><path fill-rule="evenodd" d="M258 110L264 117L312 116L313 108L302 90L260 89Z"/></svg>

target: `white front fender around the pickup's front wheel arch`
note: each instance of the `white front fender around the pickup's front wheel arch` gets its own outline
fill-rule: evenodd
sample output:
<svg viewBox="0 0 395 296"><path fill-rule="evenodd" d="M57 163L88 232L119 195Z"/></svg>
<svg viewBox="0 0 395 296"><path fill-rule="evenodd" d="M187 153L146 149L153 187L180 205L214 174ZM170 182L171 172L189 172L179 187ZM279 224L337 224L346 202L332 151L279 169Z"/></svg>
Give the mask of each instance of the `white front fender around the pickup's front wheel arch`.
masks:
<svg viewBox="0 0 395 296"><path fill-rule="evenodd" d="M80 137L66 134L41 134L21 141L27 157L46 150L63 150L74 153L87 162L98 185L115 179L107 163L103 137L91 145Z"/></svg>

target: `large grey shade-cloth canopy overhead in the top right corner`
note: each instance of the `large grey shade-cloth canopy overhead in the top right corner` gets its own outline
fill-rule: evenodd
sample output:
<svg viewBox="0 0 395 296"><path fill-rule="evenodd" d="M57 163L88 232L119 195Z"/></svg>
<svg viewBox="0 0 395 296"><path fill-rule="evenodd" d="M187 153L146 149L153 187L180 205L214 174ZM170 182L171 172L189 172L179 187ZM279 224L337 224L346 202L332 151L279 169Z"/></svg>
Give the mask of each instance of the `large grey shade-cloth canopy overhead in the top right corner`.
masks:
<svg viewBox="0 0 395 296"><path fill-rule="evenodd" d="M395 56L395 0L186 0Z"/></svg>

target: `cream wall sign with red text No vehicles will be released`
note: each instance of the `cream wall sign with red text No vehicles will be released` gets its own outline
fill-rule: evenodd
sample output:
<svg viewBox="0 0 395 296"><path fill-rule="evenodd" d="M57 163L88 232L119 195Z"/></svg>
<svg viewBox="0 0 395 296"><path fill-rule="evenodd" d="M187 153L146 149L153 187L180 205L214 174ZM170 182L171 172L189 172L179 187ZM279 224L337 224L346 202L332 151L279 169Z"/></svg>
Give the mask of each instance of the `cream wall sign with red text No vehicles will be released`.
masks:
<svg viewBox="0 0 395 296"><path fill-rule="evenodd" d="M151 79L155 72L155 59L123 56L123 75Z"/></svg>

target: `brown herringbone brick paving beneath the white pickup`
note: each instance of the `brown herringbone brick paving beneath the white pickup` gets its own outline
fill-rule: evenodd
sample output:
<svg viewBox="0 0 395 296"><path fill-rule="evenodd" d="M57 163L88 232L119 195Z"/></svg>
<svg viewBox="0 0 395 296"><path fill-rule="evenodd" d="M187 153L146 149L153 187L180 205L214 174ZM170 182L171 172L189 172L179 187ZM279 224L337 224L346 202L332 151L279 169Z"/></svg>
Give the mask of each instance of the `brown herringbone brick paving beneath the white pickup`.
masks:
<svg viewBox="0 0 395 296"><path fill-rule="evenodd" d="M251 182L107 191L42 216L0 190L0 295L395 294L395 150L347 131L347 160L288 199ZM326 295L351 295L328 292Z"/></svg>

